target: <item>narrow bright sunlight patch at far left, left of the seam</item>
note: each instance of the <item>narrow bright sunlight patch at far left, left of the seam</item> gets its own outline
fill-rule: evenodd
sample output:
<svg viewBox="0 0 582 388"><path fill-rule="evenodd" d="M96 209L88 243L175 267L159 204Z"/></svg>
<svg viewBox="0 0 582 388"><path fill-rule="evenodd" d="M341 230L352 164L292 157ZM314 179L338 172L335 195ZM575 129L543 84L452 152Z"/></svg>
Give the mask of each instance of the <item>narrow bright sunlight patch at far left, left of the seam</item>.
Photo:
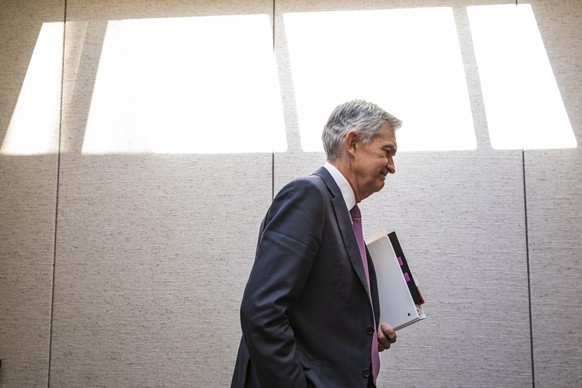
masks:
<svg viewBox="0 0 582 388"><path fill-rule="evenodd" d="M57 152L62 53L63 23L44 23L0 153L34 155Z"/></svg>

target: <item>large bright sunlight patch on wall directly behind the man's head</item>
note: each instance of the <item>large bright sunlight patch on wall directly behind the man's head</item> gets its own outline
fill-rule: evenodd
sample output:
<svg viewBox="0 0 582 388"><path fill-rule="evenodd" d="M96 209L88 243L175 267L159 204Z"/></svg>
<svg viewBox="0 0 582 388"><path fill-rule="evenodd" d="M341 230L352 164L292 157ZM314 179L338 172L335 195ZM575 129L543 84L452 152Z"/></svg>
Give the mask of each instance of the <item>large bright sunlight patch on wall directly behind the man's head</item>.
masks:
<svg viewBox="0 0 582 388"><path fill-rule="evenodd" d="M451 8L286 13L284 24L304 151L322 151L329 113L353 98L404 121L401 151L476 148Z"/></svg>

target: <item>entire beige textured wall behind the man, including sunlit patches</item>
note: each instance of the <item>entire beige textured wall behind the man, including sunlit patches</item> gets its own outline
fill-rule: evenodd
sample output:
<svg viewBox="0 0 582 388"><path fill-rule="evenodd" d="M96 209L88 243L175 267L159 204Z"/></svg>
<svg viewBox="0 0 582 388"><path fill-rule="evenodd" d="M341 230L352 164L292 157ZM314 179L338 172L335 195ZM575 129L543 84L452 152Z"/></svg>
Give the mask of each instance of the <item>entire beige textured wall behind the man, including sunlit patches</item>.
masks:
<svg viewBox="0 0 582 388"><path fill-rule="evenodd" d="M0 387L228 386L260 220L355 97L405 121L365 232L427 299L379 386L577 386L582 4L241 3L1 2Z"/></svg>

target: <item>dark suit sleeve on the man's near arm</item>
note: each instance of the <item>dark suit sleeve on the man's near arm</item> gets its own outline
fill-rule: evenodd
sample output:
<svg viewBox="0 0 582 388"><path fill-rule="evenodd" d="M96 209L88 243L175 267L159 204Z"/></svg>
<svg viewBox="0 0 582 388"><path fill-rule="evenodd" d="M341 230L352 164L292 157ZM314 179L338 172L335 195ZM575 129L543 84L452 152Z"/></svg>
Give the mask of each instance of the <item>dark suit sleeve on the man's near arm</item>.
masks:
<svg viewBox="0 0 582 388"><path fill-rule="evenodd" d="M306 180L284 187L267 212L241 305L243 337L265 387L306 387L288 311L317 256L324 199Z"/></svg>

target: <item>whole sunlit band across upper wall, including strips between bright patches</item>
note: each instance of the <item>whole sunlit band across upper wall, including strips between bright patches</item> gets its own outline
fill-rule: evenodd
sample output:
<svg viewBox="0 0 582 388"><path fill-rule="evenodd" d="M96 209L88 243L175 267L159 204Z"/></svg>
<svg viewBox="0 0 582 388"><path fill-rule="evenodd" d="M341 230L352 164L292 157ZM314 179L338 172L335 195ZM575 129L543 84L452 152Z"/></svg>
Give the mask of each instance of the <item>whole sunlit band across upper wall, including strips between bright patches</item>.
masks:
<svg viewBox="0 0 582 388"><path fill-rule="evenodd" d="M493 5L44 23L0 153L320 152L351 98L401 151L577 147L532 7Z"/></svg>

